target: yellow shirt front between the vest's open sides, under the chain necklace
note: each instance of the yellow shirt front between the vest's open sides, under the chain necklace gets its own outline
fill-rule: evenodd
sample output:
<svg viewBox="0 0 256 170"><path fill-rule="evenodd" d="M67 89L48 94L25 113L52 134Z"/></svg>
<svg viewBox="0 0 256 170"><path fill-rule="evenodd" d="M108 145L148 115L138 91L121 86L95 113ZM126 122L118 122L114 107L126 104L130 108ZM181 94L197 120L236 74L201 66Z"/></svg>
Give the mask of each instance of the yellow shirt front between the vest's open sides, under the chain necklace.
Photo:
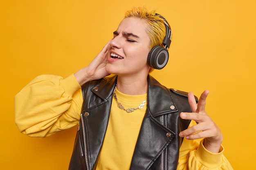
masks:
<svg viewBox="0 0 256 170"><path fill-rule="evenodd" d="M146 95L126 95L116 89L118 102L125 109L137 108ZM96 170L129 170L141 123L146 113L142 109L127 113L117 106L113 97L106 136L99 155Z"/></svg>

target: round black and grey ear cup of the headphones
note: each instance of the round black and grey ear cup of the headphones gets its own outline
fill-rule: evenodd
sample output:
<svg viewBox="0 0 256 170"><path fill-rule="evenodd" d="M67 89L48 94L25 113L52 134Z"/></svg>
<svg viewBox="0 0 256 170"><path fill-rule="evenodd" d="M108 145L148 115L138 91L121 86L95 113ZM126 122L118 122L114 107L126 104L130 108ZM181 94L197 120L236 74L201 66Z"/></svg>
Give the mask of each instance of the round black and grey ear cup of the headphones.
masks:
<svg viewBox="0 0 256 170"><path fill-rule="evenodd" d="M168 50L162 46L154 46L148 53L148 65L155 69L162 69L166 66L169 58Z"/></svg>

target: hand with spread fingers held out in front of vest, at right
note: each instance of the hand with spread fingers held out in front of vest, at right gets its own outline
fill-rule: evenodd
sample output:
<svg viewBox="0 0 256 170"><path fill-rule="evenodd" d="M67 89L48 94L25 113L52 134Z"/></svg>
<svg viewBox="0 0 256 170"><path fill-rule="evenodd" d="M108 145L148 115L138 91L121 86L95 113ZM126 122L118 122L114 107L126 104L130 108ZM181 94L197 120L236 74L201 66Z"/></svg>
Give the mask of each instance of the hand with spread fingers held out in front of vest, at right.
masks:
<svg viewBox="0 0 256 170"><path fill-rule="evenodd" d="M194 120L197 124L180 132L180 137L186 139L204 139L204 147L213 153L218 153L223 140L222 133L217 124L207 115L205 111L206 98L209 91L204 91L198 104L196 104L195 96L192 92L188 94L189 105L192 113L182 112L180 117L182 119Z"/></svg>

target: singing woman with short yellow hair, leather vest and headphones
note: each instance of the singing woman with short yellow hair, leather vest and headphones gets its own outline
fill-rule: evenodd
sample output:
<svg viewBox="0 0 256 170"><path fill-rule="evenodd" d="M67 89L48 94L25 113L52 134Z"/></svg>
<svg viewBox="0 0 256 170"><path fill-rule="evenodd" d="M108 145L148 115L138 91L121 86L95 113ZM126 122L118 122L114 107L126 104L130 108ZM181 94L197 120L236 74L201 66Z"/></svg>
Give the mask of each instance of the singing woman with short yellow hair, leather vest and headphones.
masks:
<svg viewBox="0 0 256 170"><path fill-rule="evenodd" d="M127 11L87 67L65 79L38 76L16 95L19 130L46 137L79 124L70 170L231 170L222 133L205 111L208 91L196 104L192 93L148 74L150 50L165 37L171 42L169 29L155 11Z"/></svg>

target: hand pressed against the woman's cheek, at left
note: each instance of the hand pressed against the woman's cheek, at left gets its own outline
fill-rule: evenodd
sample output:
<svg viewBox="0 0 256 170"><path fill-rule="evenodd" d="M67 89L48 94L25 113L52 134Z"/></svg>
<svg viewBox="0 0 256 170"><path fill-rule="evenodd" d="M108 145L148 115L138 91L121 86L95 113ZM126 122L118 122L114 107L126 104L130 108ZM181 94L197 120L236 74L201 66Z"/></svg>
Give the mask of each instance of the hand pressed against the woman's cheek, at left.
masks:
<svg viewBox="0 0 256 170"><path fill-rule="evenodd" d="M103 49L88 66L74 73L74 76L76 77L76 80L80 86L88 81L101 79L107 75L110 75L105 69L108 59L108 44L109 42L103 47Z"/></svg>

